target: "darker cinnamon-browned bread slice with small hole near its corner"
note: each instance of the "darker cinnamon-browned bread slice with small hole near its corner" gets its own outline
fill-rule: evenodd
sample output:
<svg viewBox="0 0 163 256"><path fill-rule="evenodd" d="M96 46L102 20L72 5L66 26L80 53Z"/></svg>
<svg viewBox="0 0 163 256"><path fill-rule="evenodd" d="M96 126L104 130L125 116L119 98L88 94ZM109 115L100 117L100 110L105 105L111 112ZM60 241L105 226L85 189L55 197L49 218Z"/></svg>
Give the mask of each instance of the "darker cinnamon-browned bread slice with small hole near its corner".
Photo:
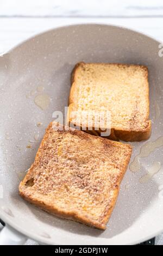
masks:
<svg viewBox="0 0 163 256"><path fill-rule="evenodd" d="M20 194L58 217L105 229L130 155L130 145L51 123Z"/></svg>

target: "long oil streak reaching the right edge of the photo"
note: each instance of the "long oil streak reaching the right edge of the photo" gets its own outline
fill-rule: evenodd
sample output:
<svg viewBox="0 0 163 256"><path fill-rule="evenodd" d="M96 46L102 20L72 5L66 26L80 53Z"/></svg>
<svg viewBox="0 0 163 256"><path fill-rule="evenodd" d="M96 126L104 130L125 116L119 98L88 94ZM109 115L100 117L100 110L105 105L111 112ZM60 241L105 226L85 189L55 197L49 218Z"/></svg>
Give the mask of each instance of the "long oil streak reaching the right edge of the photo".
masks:
<svg viewBox="0 0 163 256"><path fill-rule="evenodd" d="M156 141L154 142L147 142L144 145L142 145L140 149L140 153L135 156L134 161L130 163L130 170L131 172L137 172L140 170L140 157L147 157L149 154L151 154L156 148L163 146L163 136L160 136Z"/></svg>

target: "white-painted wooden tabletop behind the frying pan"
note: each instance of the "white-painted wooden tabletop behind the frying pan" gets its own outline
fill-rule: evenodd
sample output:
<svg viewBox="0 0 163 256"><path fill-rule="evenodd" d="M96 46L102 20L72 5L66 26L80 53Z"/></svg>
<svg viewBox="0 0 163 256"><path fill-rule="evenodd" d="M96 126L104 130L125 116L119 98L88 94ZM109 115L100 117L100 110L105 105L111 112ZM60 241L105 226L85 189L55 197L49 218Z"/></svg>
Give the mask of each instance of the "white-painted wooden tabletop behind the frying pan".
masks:
<svg viewBox="0 0 163 256"><path fill-rule="evenodd" d="M128 27L163 42L162 0L1 0L0 54L47 29L92 22ZM156 243L163 245L163 236Z"/></svg>

